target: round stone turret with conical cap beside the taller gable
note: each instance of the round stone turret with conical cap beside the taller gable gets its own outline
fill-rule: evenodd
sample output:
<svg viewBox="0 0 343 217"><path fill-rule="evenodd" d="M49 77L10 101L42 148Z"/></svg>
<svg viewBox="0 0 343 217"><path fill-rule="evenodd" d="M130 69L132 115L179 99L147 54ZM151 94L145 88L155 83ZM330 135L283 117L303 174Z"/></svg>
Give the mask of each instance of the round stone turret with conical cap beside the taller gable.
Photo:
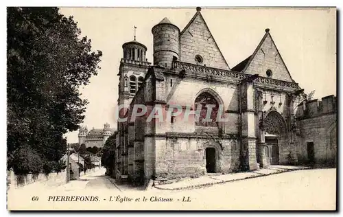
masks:
<svg viewBox="0 0 343 217"><path fill-rule="evenodd" d="M154 35L154 65L171 67L173 60L178 60L180 29L165 17L152 27Z"/></svg>

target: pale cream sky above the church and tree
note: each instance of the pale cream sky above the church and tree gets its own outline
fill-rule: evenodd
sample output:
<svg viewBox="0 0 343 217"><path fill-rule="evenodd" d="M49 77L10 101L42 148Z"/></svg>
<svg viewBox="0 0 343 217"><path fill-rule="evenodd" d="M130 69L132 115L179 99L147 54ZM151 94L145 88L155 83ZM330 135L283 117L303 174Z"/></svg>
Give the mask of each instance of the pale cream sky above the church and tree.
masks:
<svg viewBox="0 0 343 217"><path fill-rule="evenodd" d="M167 17L180 28L187 25L196 8L61 8L73 16L82 36L92 41L94 51L102 51L98 75L81 87L88 99L84 126L116 128L121 45L134 38L147 47L152 62L154 25ZM230 68L247 58L265 34L270 34L292 78L305 93L316 90L314 98L336 95L336 16L329 8L202 8L202 16ZM78 132L66 134L68 142L78 141Z"/></svg>

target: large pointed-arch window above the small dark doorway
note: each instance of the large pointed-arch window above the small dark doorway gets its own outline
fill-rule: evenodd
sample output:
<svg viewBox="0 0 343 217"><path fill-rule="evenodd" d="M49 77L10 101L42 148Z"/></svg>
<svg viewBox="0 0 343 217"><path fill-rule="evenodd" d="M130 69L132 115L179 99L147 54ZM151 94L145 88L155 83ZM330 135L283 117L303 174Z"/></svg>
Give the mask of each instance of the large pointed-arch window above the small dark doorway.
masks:
<svg viewBox="0 0 343 217"><path fill-rule="evenodd" d="M198 106L201 105L200 117L196 121L196 126L218 126L217 124L217 113L219 109L219 104L217 100L210 93L204 92L198 95L195 101L195 108L198 109ZM206 106L207 105L207 106ZM211 110L208 106L211 105L212 111L209 116L211 121L206 121L207 111Z"/></svg>

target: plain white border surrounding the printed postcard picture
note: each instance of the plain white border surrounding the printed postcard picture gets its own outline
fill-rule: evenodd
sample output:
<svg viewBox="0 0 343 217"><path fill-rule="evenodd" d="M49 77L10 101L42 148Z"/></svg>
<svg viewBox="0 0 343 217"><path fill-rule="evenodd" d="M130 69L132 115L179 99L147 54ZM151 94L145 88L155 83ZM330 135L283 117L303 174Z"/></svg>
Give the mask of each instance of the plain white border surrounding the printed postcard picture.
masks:
<svg viewBox="0 0 343 217"><path fill-rule="evenodd" d="M6 153L6 76L5 76L5 71L6 71L6 7L7 6L17 6L17 5L21 5L21 6L63 6L63 7L135 7L135 8L150 8L150 7L158 7L158 8L165 8L165 7L189 7L189 8L195 8L196 6L202 6L204 8L206 7L215 7L215 8L222 8L222 7L252 7L252 6L259 6L259 7L329 7L329 6L336 6L339 9L342 8L342 1L332 1L332 0L326 0L326 1L314 1L314 0L307 0L307 1L299 1L299 0L287 0L287 1L246 1L246 0L240 0L240 1L218 1L218 0L211 0L211 1L204 1L204 0L198 0L198 1L185 1L185 0L174 0L174 1L138 1L138 0L134 0L134 1L81 1L81 0L60 0L60 1L10 1L7 2L7 4L5 4L5 1L1 1L1 51L3 52L3 58L1 59L1 69L3 69L3 72L0 73L1 75L1 82L3 82L3 84L0 86L1 87L1 92L0 92L0 98L1 98L1 140L2 142L2 174L3 174L3 178L0 179L1 180L1 184L0 186L2 186L1 190L2 190L2 196L1 196L1 205L2 205L2 213L1 216L9 216L10 213L5 209L5 203L6 203L6 198L5 198L5 161L6 161L6 157L5 157L5 153ZM4 4L4 5L2 5ZM205 6L206 5L206 6ZM338 30L340 30L341 28L341 23L338 23L339 27ZM340 39L340 38L338 38ZM338 45L340 45L340 43L338 43ZM339 47L341 48L341 47ZM339 50L338 50L339 51ZM340 57L340 60L338 62L342 62L342 56ZM338 67L339 69L339 67ZM342 77L342 76L341 76ZM339 80L339 82L341 82L341 79ZM340 89L338 89L338 91L340 91ZM342 92L340 91L339 96L342 95ZM341 99L339 99L339 102L341 101ZM339 105L340 108L342 108L341 104ZM340 117L340 116L338 116ZM342 126L342 123L340 123L340 126ZM340 129L342 130L342 128ZM340 131L340 133L338 135L343 135L342 131ZM339 150L340 150L340 155L342 156L342 146L340 146ZM340 189L342 189L342 187L340 187ZM342 206L339 206L342 208ZM52 213L45 213L43 214L44 216L48 216ZM58 215L63 214L65 216L73 216L73 215L79 215L79 216L84 216L85 212L76 214L76 213L56 213ZM90 214L90 213L88 213ZM99 213L91 213L91 214L99 214ZM101 213L104 214L104 213ZM115 215L115 216L127 216L127 215L135 215L137 216L139 213L133 213L133 214L127 214L127 213L109 213L107 215ZM164 214L164 213L161 213ZM187 213L190 214L190 213ZM207 213L209 214L209 213ZM217 213L216 213L217 214ZM230 215L237 215L239 213L231 213ZM262 213L261 213L262 214ZM292 214L292 213L291 213ZM313 215L314 213L311 213L311 215ZM318 215L322 216L324 213L318 213ZM24 216L25 213L21 213L21 214L16 214L16 216ZM33 215L36 215L36 213L33 213ZM145 215L151 215L149 214L145 214ZM159 214L158 214L159 215ZM173 213L173 215L182 215L182 214L178 214L178 213ZM196 214L199 215L199 214ZM224 213L224 215L226 215ZM292 214L294 215L294 214Z"/></svg>

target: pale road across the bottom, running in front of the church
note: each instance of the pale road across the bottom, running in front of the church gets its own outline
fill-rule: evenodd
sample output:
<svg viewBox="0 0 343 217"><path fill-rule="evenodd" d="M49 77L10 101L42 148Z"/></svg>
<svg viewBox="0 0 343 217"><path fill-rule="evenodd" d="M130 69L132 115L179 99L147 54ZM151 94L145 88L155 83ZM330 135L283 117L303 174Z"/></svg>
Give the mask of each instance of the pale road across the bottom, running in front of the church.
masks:
<svg viewBox="0 0 343 217"><path fill-rule="evenodd" d="M99 196L102 203L49 203L42 201L29 203L30 208L48 208L53 205L54 209L225 209L225 210L322 210L335 209L336 195L336 170L298 170L261 176L253 179L234 181L202 189L165 191L152 188L145 192L137 192L125 187L121 190L113 185L106 176L104 170L99 170L78 181L54 188L54 190L25 189L12 194L10 199L16 201L31 201L32 196L40 198L48 196ZM29 189L29 188L27 188ZM9 193L10 194L10 193ZM131 198L147 198L146 203L119 203L110 202L110 197L117 196ZM154 198L172 198L173 202L156 203ZM182 202L185 201L190 202ZM21 203L20 205L23 205ZM68 205L68 207L66 207ZM69 207L70 205L70 207Z"/></svg>

